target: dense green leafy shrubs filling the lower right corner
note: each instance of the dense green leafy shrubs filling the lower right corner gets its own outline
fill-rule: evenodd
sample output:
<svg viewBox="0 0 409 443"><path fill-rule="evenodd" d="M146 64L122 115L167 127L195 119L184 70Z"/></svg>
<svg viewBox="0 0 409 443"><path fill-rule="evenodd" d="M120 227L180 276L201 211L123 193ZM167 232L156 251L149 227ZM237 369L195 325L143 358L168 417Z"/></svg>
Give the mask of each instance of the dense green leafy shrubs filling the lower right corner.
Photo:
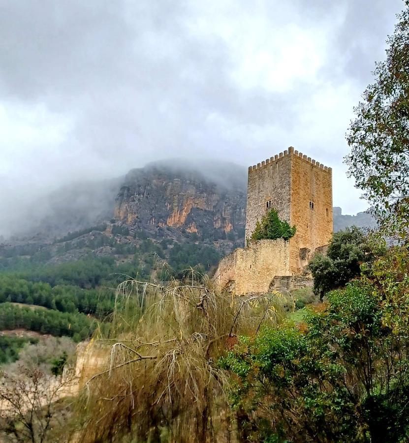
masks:
<svg viewBox="0 0 409 443"><path fill-rule="evenodd" d="M384 289L348 284L300 327L265 328L220 360L244 441L408 441L408 301Z"/></svg>

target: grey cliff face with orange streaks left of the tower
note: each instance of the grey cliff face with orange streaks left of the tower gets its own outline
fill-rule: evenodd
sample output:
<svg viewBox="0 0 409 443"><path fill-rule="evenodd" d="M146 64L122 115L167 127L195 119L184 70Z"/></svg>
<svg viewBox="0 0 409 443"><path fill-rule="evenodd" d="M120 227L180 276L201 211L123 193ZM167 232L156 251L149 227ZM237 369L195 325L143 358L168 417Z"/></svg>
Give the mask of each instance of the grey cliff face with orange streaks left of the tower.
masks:
<svg viewBox="0 0 409 443"><path fill-rule="evenodd" d="M146 167L130 171L116 198L115 218L148 231L186 229L243 237L245 189L208 181L197 171Z"/></svg>

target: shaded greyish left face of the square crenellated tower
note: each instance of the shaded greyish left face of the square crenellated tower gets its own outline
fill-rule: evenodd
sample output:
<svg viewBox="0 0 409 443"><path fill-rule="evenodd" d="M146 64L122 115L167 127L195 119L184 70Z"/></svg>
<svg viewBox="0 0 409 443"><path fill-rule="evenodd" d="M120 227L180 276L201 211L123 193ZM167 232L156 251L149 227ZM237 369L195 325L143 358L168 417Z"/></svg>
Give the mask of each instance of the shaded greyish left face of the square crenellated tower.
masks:
<svg viewBox="0 0 409 443"><path fill-rule="evenodd" d="M250 166L247 186L246 245L256 221L268 210L266 203L277 210L282 220L290 221L291 158L287 151Z"/></svg>

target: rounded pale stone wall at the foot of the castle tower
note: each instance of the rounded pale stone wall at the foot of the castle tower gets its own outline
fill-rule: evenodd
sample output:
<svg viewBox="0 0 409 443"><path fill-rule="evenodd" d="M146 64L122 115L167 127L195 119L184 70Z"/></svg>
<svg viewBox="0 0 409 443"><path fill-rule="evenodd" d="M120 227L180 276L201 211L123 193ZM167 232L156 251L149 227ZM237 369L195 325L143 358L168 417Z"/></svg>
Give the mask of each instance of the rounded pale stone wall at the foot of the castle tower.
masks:
<svg viewBox="0 0 409 443"><path fill-rule="evenodd" d="M250 242L221 259L213 277L218 290L230 286L237 295L268 292L276 276L289 276L290 244L283 239Z"/></svg>

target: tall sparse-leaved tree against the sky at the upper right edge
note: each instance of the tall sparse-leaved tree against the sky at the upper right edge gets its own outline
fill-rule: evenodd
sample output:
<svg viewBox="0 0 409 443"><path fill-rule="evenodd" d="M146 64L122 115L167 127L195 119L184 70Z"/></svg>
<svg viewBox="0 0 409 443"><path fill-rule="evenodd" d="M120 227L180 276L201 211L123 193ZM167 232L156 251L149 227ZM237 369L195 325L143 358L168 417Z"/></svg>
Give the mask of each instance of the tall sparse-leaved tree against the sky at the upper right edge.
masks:
<svg viewBox="0 0 409 443"><path fill-rule="evenodd" d="M355 108L347 141L349 175L374 206L388 233L409 226L409 6L387 39L386 60Z"/></svg>

